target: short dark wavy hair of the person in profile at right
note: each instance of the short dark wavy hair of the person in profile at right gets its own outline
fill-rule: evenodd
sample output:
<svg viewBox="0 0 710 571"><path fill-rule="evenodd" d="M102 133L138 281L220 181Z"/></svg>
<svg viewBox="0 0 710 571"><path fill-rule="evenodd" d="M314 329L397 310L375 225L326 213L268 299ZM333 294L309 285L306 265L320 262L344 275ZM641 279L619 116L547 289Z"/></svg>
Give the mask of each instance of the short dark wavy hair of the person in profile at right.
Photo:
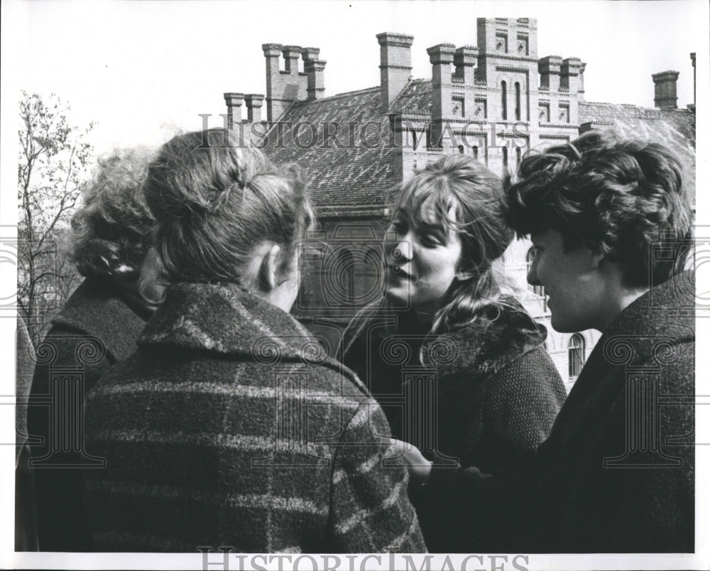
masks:
<svg viewBox="0 0 710 571"><path fill-rule="evenodd" d="M588 246L620 263L632 286L661 283L684 266L692 205L682 162L660 143L589 131L531 151L505 185L506 222L518 237L556 230L565 248ZM652 256L652 244L673 254Z"/></svg>

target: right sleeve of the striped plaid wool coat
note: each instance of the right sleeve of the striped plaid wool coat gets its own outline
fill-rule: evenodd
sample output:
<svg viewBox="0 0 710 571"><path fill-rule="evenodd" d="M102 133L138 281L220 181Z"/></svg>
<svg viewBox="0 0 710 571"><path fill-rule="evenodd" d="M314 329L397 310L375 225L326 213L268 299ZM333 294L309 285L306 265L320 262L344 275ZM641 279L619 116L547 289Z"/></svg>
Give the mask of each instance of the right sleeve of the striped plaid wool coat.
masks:
<svg viewBox="0 0 710 571"><path fill-rule="evenodd" d="M407 495L406 469L388 459L389 428L368 399L344 428L334 455L330 529L341 553L426 551Z"/></svg>

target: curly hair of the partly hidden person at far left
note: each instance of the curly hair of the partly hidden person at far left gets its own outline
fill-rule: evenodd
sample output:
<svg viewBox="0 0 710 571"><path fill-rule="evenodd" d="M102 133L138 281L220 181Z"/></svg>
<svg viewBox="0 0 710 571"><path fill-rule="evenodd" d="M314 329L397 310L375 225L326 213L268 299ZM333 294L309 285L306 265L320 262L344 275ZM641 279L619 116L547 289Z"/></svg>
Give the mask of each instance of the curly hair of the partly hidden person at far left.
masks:
<svg viewBox="0 0 710 571"><path fill-rule="evenodd" d="M141 188L153 154L139 146L99 158L67 239L67 257L82 276L138 278L155 225Z"/></svg>

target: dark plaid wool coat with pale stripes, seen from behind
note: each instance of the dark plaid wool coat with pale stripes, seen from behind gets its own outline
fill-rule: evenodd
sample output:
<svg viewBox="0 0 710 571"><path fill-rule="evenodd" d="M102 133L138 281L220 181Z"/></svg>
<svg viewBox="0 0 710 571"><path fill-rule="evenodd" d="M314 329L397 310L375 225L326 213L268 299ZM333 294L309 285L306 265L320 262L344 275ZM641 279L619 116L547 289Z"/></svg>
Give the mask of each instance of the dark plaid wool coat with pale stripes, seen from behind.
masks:
<svg viewBox="0 0 710 571"><path fill-rule="evenodd" d="M425 550L359 379L235 285L179 283L88 396L97 550Z"/></svg>

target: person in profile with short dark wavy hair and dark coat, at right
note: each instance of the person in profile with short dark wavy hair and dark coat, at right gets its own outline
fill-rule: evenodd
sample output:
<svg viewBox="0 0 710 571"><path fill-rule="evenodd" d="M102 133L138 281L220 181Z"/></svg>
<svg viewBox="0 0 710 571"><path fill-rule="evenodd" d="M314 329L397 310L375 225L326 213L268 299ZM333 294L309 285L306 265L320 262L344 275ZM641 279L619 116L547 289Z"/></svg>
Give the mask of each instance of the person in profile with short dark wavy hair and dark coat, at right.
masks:
<svg viewBox="0 0 710 571"><path fill-rule="evenodd" d="M552 327L601 339L537 448L522 504L505 479L445 473L410 455L430 502L469 533L506 513L516 550L694 551L695 280L692 202L665 146L590 131L526 156L506 219L535 247L528 281L550 296Z"/></svg>

